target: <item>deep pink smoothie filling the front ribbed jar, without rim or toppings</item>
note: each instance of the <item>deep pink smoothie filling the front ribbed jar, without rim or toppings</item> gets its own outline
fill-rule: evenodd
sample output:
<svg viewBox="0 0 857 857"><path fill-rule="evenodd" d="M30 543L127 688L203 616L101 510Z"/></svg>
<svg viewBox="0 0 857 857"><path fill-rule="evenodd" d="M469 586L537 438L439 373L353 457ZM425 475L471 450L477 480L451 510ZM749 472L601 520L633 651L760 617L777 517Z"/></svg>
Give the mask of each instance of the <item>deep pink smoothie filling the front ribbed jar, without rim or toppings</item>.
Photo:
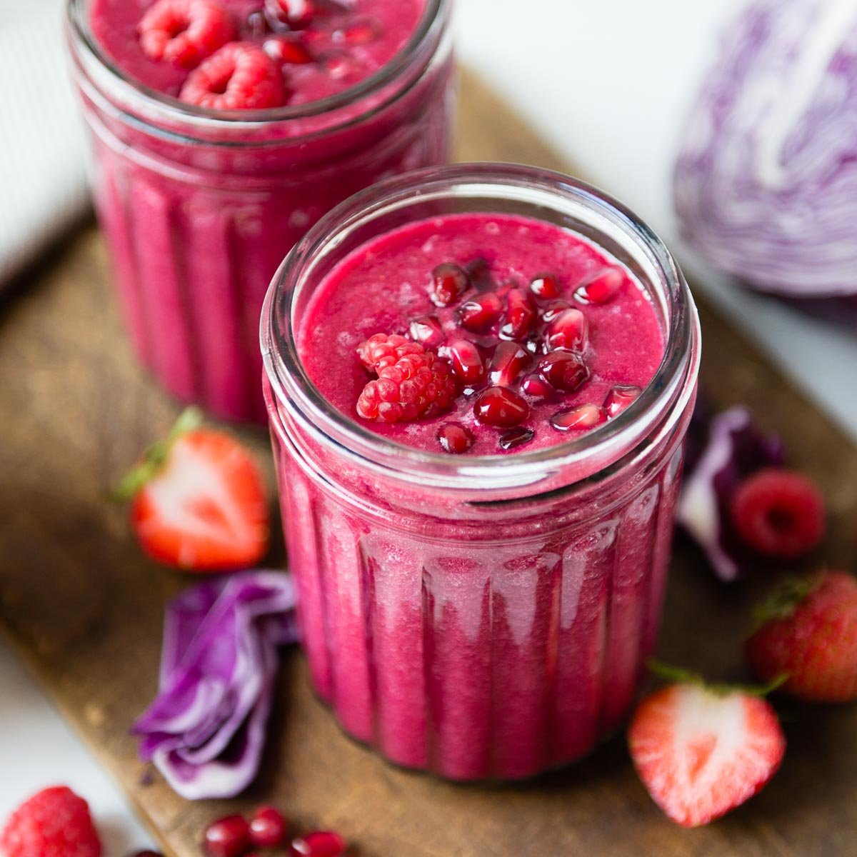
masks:
<svg viewBox="0 0 857 857"><path fill-rule="evenodd" d="M476 260L485 264L476 269ZM430 296L445 263L474 273L470 289L441 309ZM556 298L530 287L547 273ZM429 419L387 425L357 416L372 377L357 357L364 339L409 333L415 316L436 315L443 336L434 348L444 355L462 335L461 308L500 292L506 313L510 281L530 290L539 317L551 300L580 309L589 333L579 348L588 380L542 398L523 393L522 378L538 374L544 325L533 321L520 340L531 360L508 383L530 407L516 428L531 431L529 440L503 449L508 429L473 417L485 381L462 387L451 411ZM586 293L598 300L584 303L580 290L593 284L602 291ZM506 214L451 214L345 255L297 315L295 339L309 380L346 421L448 458L438 430L459 423L474 438L468 452L505 462L499 457L596 430L562 432L551 424L557 412L602 409L615 387L649 384L665 348L660 319L644 287L577 234ZM504 322L468 332L488 361L507 341ZM475 503L460 489L363 467L304 433L288 398L271 386L267 396L303 645L315 688L346 731L397 764L478 780L566 764L620 728L656 641L685 417L597 480ZM479 474L465 484L478 499Z"/></svg>

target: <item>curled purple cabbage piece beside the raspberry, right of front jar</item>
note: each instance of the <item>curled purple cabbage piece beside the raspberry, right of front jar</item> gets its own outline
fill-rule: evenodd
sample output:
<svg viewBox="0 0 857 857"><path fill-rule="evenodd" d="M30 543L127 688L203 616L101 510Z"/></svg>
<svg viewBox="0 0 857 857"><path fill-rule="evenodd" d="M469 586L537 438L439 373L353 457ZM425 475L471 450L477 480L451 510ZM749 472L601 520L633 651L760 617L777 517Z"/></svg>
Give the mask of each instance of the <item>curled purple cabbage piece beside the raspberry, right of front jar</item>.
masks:
<svg viewBox="0 0 857 857"><path fill-rule="evenodd" d="M714 417L708 440L686 474L678 522L703 548L718 578L731 581L754 557L736 535L729 506L735 488L757 470L783 464L782 440L763 434L746 408Z"/></svg>

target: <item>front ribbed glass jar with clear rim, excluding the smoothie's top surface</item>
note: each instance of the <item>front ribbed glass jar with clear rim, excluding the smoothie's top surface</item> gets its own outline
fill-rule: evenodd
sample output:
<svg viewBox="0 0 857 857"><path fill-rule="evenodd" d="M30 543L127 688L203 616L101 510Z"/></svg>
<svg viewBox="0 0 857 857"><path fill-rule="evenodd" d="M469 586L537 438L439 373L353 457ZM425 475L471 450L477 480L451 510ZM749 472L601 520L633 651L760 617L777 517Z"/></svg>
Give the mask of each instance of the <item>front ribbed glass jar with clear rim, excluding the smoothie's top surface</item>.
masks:
<svg viewBox="0 0 857 857"><path fill-rule="evenodd" d="M460 212L565 226L649 292L666 352L620 417L477 458L401 446L321 398L296 349L315 286L372 238ZM268 292L261 344L303 646L345 730L400 765L505 780L620 728L656 644L698 375L698 316L661 241L555 173L421 171L309 232Z"/></svg>

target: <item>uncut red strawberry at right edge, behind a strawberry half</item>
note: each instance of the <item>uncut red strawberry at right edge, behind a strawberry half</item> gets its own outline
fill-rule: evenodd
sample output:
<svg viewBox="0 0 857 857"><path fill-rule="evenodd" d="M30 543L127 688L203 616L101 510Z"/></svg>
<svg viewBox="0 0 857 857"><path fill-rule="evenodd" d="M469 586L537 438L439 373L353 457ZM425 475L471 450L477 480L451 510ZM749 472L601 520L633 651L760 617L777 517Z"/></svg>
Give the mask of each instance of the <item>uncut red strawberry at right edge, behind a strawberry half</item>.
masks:
<svg viewBox="0 0 857 857"><path fill-rule="evenodd" d="M822 572L789 584L758 611L746 643L755 674L788 675L782 691L808 702L857 698L857 580Z"/></svg>

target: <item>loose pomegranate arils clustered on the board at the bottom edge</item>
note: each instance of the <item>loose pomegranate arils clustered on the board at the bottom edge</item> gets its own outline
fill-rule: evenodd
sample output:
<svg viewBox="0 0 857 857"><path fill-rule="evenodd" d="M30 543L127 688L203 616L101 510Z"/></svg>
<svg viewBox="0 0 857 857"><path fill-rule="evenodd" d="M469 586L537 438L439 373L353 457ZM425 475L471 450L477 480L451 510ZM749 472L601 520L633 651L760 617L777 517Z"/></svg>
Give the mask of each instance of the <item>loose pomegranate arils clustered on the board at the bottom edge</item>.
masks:
<svg viewBox="0 0 857 857"><path fill-rule="evenodd" d="M240 815L219 818L205 832L208 857L261 857L255 849L284 848L289 825L273 806L262 806L249 821ZM339 833L316 830L288 843L288 857L343 857L348 846Z"/></svg>

